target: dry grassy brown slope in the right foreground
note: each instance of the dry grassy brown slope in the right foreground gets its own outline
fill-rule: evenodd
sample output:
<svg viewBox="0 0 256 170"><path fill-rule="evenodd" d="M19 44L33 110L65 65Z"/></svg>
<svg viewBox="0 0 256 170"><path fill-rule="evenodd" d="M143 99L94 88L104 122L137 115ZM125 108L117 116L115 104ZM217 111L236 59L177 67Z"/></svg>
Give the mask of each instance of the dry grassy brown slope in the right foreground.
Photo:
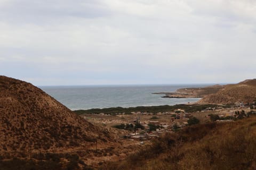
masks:
<svg viewBox="0 0 256 170"><path fill-rule="evenodd" d="M255 169L256 117L204 124L166 135L121 163L102 169Z"/></svg>

